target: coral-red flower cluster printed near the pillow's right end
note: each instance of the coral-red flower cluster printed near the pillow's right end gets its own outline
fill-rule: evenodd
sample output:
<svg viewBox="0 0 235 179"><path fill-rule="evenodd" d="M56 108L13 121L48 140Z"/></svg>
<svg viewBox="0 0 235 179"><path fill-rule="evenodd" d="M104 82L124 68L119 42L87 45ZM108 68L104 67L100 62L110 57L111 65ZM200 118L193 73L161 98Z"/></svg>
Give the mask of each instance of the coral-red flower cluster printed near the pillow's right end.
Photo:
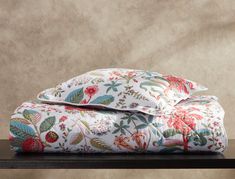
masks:
<svg viewBox="0 0 235 179"><path fill-rule="evenodd" d="M191 82L187 82L185 79L175 77L175 76L166 76L166 79L170 83L170 86L166 91L169 89L177 89L179 92L184 92L186 94L189 94L189 91L187 89L187 86L190 89L193 89L193 84Z"/></svg>

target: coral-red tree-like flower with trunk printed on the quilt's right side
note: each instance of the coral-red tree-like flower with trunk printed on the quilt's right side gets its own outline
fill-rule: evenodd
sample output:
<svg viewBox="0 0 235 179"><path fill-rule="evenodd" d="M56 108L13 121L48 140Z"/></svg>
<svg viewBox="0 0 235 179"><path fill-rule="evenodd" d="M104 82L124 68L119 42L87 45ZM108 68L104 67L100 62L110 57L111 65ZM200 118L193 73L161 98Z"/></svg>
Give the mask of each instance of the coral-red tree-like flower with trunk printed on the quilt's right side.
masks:
<svg viewBox="0 0 235 179"><path fill-rule="evenodd" d="M191 111L190 111L191 112ZM178 108L177 111L170 117L167 124L169 127L174 127L180 131L183 135L184 150L188 150L188 138L187 135L195 129L195 119L200 120L203 117L198 114L192 114L187 110Z"/></svg>

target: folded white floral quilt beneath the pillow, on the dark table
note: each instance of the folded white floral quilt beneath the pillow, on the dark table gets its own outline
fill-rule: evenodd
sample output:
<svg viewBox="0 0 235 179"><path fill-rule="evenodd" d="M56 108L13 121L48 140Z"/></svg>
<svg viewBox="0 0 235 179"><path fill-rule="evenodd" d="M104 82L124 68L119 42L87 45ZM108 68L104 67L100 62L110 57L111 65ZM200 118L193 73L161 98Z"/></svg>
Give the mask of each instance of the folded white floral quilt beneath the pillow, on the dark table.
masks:
<svg viewBox="0 0 235 179"><path fill-rule="evenodd" d="M194 96L156 116L25 102L12 115L17 152L223 152L224 111L213 96Z"/></svg>

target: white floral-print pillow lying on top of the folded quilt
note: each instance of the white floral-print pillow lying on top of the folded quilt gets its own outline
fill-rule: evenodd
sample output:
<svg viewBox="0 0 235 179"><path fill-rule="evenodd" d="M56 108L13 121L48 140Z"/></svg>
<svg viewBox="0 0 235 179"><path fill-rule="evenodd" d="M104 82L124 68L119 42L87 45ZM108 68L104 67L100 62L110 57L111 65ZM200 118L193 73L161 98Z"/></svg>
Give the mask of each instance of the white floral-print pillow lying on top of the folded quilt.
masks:
<svg viewBox="0 0 235 179"><path fill-rule="evenodd" d="M171 75L144 70L98 69L38 94L44 102L106 107L157 115L207 88Z"/></svg>

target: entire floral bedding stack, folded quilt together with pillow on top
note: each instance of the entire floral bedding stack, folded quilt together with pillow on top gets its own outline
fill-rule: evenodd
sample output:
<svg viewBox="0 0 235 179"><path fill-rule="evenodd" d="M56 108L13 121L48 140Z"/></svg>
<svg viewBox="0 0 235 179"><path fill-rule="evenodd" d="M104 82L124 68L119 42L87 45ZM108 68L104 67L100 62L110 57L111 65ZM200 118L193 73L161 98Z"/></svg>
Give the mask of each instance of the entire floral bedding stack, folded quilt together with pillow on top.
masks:
<svg viewBox="0 0 235 179"><path fill-rule="evenodd" d="M190 80L100 69L47 89L12 115L16 152L177 153L227 147L224 110Z"/></svg>

